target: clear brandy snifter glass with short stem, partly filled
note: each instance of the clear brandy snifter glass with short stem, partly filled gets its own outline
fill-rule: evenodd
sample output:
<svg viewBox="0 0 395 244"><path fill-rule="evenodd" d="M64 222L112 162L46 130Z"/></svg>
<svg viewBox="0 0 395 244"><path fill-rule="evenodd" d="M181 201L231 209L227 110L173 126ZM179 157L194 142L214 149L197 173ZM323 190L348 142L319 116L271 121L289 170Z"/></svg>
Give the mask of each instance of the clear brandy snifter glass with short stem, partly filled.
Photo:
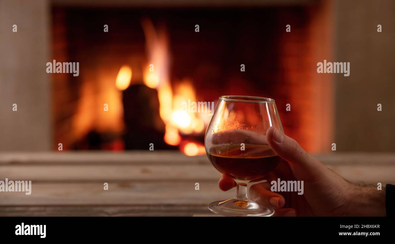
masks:
<svg viewBox="0 0 395 244"><path fill-rule="evenodd" d="M209 204L224 216L271 216L274 210L247 197L247 184L275 169L280 157L271 150L266 131L284 133L275 100L252 96L221 96L205 135L205 149L214 167L233 178L237 196Z"/></svg>

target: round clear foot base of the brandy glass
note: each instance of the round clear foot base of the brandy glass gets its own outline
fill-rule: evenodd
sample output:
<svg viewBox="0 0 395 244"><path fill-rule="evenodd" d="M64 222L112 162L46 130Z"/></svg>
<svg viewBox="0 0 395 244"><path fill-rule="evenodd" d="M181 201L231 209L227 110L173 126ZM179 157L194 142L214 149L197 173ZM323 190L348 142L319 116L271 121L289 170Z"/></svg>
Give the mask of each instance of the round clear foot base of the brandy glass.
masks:
<svg viewBox="0 0 395 244"><path fill-rule="evenodd" d="M240 201L232 198L225 201L216 201L209 204L211 212L223 216L265 216L269 217L274 214L271 208L265 208L253 201Z"/></svg>

